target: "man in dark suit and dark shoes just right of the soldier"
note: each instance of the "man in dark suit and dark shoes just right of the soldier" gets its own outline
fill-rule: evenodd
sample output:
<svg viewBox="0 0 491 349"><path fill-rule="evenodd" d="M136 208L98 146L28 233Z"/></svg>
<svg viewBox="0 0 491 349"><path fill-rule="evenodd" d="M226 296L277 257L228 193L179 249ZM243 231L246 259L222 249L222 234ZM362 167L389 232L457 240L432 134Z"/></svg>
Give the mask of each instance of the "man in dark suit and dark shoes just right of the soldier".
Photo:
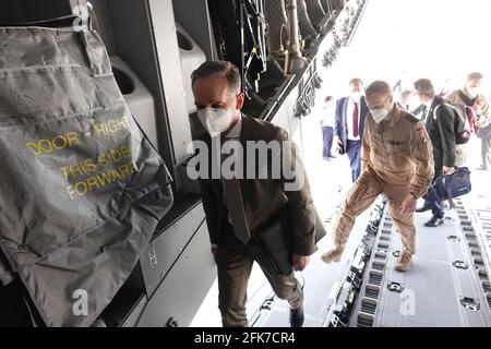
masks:
<svg viewBox="0 0 491 349"><path fill-rule="evenodd" d="M433 84L428 79L420 79L415 83L416 95L426 106L423 120L433 145L434 179L443 173L455 172L455 117L445 106L445 99L438 96ZM424 205L416 212L432 209L433 216L424 224L426 227L438 227L444 222L443 210L434 205L426 195Z"/></svg>

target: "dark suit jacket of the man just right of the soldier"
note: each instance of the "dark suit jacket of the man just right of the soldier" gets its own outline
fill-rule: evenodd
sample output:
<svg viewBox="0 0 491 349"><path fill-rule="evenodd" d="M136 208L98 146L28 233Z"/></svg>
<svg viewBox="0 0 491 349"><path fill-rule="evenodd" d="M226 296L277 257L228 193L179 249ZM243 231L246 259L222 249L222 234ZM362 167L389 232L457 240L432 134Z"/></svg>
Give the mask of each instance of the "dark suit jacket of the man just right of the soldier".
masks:
<svg viewBox="0 0 491 349"><path fill-rule="evenodd" d="M442 97L435 97L426 122L433 145L435 177L442 173L443 166L455 166L455 117L444 103Z"/></svg>

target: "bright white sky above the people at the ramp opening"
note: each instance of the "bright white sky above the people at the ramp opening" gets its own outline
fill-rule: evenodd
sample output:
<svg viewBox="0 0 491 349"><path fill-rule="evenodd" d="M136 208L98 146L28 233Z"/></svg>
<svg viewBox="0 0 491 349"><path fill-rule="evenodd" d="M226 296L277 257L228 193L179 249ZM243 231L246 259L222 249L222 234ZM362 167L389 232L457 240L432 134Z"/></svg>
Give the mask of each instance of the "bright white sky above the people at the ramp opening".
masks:
<svg viewBox="0 0 491 349"><path fill-rule="evenodd" d="M491 95L491 1L369 0L349 48L324 72L330 94L347 93L350 77L370 83L420 77L460 87L480 71Z"/></svg>

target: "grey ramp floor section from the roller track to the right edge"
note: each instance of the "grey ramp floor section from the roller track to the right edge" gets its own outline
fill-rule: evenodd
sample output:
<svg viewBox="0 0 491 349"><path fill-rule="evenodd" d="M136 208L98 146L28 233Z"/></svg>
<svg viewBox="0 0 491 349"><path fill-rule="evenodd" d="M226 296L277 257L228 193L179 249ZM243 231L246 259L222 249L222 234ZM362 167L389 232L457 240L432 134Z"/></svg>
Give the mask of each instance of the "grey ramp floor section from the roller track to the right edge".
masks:
<svg viewBox="0 0 491 349"><path fill-rule="evenodd" d="M469 214L457 204L445 225L424 228L430 216L416 215L418 251L407 273L394 269L400 239L384 219L350 326L491 326L488 274Z"/></svg>

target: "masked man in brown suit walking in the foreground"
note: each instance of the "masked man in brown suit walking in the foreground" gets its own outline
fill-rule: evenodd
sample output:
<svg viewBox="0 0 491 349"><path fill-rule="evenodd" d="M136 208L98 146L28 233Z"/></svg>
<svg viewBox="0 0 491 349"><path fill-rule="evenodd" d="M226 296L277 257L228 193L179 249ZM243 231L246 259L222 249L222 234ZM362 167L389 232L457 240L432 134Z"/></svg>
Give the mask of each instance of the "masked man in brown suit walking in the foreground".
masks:
<svg viewBox="0 0 491 349"><path fill-rule="evenodd" d="M233 152L221 159L218 178L209 173L207 178L200 179L212 252L218 269L223 325L248 326L247 287L252 264L256 262L277 297L290 303L290 325L299 327L304 317L302 287L294 270L287 275L279 273L278 265L272 261L261 237L271 231L268 227L275 226L278 219L289 218L290 229L285 229L287 227L283 225L277 239L279 243L285 242L282 239L290 241L291 251L287 253L287 258L295 270L302 270L309 263L309 256L316 250L315 208L304 169L299 161L295 161L294 176L288 176L288 179L304 179L295 190L286 190L288 180L283 170L279 179L270 176L271 169L282 166L277 156L268 157L267 164L260 166L267 168L267 178L258 177L258 172L250 177L251 143L266 142L274 145L275 142L285 144L290 140L282 128L240 112L244 100L240 86L239 70L229 62L205 62L192 74L197 117L207 131L202 140L207 148L218 144L218 151L221 149L224 155L227 153L224 147L230 141L247 144L243 157ZM285 160L285 156L287 160L297 159L295 146L290 152L282 151L282 160ZM225 176L223 169L230 157L233 157L237 167L243 167L244 173L248 173L246 179ZM252 160L256 163L254 158ZM213 164L213 158L208 163Z"/></svg>

